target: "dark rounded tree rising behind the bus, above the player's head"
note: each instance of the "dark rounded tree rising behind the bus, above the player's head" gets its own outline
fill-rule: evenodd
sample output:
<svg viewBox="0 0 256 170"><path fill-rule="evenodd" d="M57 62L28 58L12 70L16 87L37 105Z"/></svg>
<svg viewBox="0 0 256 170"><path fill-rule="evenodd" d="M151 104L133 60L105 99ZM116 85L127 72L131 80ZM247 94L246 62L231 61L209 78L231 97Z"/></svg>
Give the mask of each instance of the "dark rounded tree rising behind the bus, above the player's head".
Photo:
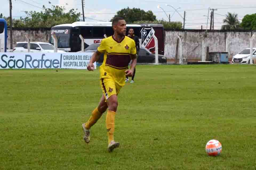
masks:
<svg viewBox="0 0 256 170"><path fill-rule="evenodd" d="M153 14L151 10L144 11L140 8L123 8L120 11L117 11L117 15L115 17L122 17L125 19L126 23L133 23L140 20L147 20L147 21L155 21L156 16ZM111 19L111 21L113 20Z"/></svg>

